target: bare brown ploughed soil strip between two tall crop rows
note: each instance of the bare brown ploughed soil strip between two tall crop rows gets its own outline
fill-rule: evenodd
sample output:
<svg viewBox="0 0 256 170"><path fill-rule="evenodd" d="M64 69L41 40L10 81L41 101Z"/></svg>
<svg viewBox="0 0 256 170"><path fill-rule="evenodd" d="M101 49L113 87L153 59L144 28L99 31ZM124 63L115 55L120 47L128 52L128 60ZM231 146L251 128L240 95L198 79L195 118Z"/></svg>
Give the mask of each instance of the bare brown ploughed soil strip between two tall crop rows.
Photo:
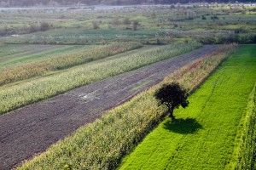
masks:
<svg viewBox="0 0 256 170"><path fill-rule="evenodd" d="M102 111L124 103L217 47L205 46L0 116L0 169L10 169L43 152L77 128L94 122Z"/></svg>

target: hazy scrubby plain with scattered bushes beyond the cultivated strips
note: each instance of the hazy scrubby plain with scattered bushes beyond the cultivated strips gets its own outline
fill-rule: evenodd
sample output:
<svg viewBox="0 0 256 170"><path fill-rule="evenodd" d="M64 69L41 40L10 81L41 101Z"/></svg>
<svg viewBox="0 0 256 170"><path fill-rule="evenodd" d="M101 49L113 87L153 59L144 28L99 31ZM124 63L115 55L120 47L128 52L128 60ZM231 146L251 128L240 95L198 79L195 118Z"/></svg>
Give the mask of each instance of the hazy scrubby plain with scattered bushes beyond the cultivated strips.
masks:
<svg viewBox="0 0 256 170"><path fill-rule="evenodd" d="M242 4L0 9L0 41L252 43L256 41L255 14L256 7Z"/></svg>

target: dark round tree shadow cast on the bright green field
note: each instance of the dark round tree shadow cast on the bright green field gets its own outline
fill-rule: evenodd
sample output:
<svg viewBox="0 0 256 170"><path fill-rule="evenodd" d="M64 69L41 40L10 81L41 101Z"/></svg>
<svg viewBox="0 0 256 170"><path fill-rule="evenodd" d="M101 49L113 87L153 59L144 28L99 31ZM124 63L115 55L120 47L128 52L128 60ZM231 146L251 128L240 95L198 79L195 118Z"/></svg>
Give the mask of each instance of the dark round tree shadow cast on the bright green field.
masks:
<svg viewBox="0 0 256 170"><path fill-rule="evenodd" d="M202 128L195 119L172 119L164 123L164 128L173 133L196 133L199 129Z"/></svg>

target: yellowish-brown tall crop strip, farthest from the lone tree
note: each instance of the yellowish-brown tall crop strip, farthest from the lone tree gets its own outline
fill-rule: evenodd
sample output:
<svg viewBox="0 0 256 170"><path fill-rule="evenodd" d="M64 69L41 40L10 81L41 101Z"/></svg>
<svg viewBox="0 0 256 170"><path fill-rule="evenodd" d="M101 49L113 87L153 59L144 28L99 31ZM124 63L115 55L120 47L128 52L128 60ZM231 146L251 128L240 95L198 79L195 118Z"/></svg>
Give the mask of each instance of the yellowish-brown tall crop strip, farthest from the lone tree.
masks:
<svg viewBox="0 0 256 170"><path fill-rule="evenodd" d="M74 65L81 65L140 47L142 46L137 42L114 43L103 47L85 49L73 54L64 54L56 58L6 68L1 71L0 85L42 75L47 71L57 71Z"/></svg>

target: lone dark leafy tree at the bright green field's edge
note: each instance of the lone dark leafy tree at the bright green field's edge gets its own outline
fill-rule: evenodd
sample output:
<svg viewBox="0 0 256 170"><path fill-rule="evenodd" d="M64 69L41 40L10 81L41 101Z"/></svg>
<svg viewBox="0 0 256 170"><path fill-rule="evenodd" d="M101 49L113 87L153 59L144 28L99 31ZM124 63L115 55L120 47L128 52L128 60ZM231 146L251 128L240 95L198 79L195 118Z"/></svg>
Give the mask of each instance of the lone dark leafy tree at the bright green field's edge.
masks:
<svg viewBox="0 0 256 170"><path fill-rule="evenodd" d="M160 100L161 105L164 104L168 107L169 116L172 118L174 118L173 110L175 108L178 108L180 105L185 108L189 105L188 96L187 90L183 89L177 82L164 84L154 94L154 97Z"/></svg>

